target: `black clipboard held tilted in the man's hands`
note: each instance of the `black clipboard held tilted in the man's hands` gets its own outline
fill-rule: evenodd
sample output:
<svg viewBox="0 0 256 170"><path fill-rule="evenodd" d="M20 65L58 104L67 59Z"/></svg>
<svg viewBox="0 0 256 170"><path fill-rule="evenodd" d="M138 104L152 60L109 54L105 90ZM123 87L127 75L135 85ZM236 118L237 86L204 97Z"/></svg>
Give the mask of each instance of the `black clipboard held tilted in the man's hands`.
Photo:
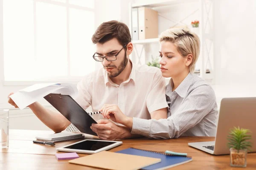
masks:
<svg viewBox="0 0 256 170"><path fill-rule="evenodd" d="M72 97L63 94L48 94L44 96L44 99L75 125L81 133L97 136L90 129L92 123L97 122Z"/></svg>

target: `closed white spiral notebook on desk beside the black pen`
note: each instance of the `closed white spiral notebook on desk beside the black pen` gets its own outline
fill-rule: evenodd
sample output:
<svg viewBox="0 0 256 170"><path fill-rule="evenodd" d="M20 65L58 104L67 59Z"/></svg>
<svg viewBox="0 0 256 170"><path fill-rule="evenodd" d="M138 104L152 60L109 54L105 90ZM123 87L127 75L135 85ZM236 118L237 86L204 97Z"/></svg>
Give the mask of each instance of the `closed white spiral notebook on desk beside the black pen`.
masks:
<svg viewBox="0 0 256 170"><path fill-rule="evenodd" d="M37 140L47 141L47 142L61 142L61 141L68 141L73 139L80 139L84 138L83 133L72 133L72 132L61 132L61 133L54 133L54 134L46 134L35 137Z"/></svg>

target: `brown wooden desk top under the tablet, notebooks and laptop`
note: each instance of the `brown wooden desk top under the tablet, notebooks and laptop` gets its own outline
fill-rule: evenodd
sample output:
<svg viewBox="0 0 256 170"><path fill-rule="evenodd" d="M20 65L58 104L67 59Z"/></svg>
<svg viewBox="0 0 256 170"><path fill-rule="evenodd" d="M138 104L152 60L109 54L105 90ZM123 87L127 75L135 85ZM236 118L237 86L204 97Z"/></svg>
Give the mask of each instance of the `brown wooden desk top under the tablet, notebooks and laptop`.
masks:
<svg viewBox="0 0 256 170"><path fill-rule="evenodd" d="M79 140L68 142L57 142L55 147L34 144L35 136L40 134L50 134L52 131L41 130L10 130L9 148L0 150L0 170L92 170L96 168L86 167L68 163L68 160L58 161L55 158L55 147L64 146ZM81 139L80 139L81 140ZM123 144L109 151L115 152L135 147L139 149L155 150L164 152L172 150L175 152L188 153L192 156L193 161L171 168L171 170L239 170L244 168L230 167L230 157L212 156L201 150L197 150L188 146L188 142L204 142L212 141L214 137L180 137L178 139L153 140L153 139L125 139ZM80 154L79 156L86 156ZM247 155L247 170L256 169L256 153L248 153Z"/></svg>

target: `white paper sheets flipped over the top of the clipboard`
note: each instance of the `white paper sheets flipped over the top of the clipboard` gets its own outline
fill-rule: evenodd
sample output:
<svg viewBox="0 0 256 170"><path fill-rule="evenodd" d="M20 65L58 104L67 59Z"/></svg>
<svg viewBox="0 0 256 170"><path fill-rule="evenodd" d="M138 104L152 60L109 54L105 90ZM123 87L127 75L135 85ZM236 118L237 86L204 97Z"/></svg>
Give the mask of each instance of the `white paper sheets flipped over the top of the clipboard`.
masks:
<svg viewBox="0 0 256 170"><path fill-rule="evenodd" d="M70 95L73 99L78 95L76 85L70 83L40 83L24 88L10 97L22 110L50 93Z"/></svg>

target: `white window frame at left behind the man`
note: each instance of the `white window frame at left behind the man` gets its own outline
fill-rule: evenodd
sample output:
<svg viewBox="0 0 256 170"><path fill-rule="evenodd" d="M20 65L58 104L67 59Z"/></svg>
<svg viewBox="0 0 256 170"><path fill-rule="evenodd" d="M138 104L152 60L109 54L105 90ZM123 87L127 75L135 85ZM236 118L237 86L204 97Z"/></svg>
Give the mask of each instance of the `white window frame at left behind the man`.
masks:
<svg viewBox="0 0 256 170"><path fill-rule="evenodd" d="M82 76L71 76L70 75L70 28L69 28L69 10L70 8L73 9L79 9L79 10L86 10L86 11L92 11L95 14L95 6L94 8L88 8L84 6L78 6L74 4L69 3L70 0L66 0L66 2L58 2L58 1L53 1L53 0L33 0L34 4L34 50L35 50L35 57L36 57L36 3L41 2L41 3L49 3L53 5L58 5L58 6L64 6L67 8L67 70L68 70L68 75L64 77L49 77L46 81L5 81L4 79L4 57L3 57L3 0L0 0L0 80L2 80L3 86L28 86L28 85L33 85L35 83L48 83L48 82L70 82L73 84L78 83L81 79ZM95 3L95 1L94 1ZM96 23L96 22L95 22ZM96 24L94 24L94 27L96 27ZM95 63L97 65L97 63Z"/></svg>

